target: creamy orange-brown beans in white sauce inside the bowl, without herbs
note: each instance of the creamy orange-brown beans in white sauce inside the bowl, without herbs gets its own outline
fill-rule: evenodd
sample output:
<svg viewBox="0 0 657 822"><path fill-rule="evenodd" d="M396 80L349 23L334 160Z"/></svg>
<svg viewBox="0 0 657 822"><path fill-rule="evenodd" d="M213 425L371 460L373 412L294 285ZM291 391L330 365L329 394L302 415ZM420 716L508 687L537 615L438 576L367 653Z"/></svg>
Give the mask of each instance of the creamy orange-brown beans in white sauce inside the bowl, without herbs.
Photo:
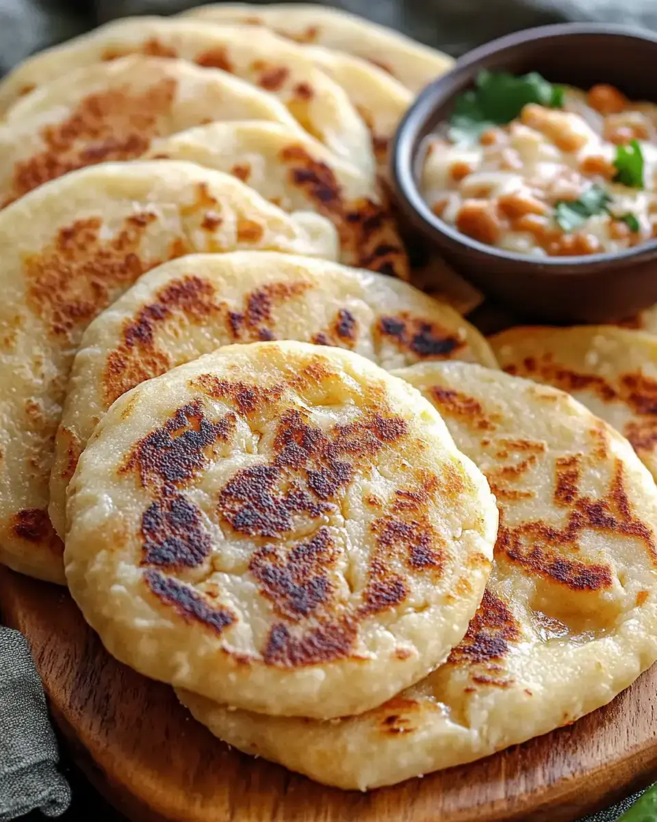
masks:
<svg viewBox="0 0 657 822"><path fill-rule="evenodd" d="M618 145L637 140L642 189L613 182ZM632 103L609 85L567 88L562 109L527 104L474 145L443 136L427 143L421 190L434 214L469 237L531 256L618 252L657 236L657 105ZM592 185L609 194L608 212L577 229L555 219L559 201ZM633 215L630 224L620 219Z"/></svg>

